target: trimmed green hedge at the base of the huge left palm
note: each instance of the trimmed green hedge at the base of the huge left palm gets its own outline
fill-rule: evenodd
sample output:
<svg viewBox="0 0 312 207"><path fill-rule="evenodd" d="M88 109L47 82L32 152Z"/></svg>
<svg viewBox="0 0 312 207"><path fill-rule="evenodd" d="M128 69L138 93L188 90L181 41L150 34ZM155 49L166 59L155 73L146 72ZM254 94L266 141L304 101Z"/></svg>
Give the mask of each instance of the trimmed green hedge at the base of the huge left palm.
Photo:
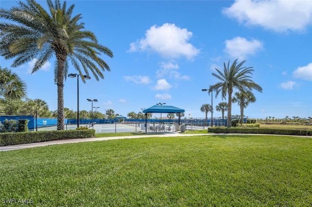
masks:
<svg viewBox="0 0 312 207"><path fill-rule="evenodd" d="M95 135L96 131L94 129L0 133L0 146L28 144L42 141L53 141L72 138L90 138L95 137Z"/></svg>

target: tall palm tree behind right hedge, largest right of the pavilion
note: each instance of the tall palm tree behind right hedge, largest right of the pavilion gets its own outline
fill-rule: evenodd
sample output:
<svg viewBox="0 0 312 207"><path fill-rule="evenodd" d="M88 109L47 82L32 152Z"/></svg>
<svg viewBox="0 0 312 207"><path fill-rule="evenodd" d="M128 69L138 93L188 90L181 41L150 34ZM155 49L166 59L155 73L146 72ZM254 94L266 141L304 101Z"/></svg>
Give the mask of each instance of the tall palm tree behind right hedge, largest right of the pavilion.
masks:
<svg viewBox="0 0 312 207"><path fill-rule="evenodd" d="M230 60L228 65L224 62L223 72L219 69L216 69L217 73L212 73L220 81L215 85L210 86L210 91L215 91L215 97L221 92L222 99L226 99L228 95L228 121L227 127L231 127L231 113L232 113L232 93L234 88L237 88L242 93L247 91L252 91L253 89L262 92L262 87L254 83L251 79L252 72L254 71L253 67L242 67L246 60L241 63L237 63L237 59L233 62L230 67Z"/></svg>

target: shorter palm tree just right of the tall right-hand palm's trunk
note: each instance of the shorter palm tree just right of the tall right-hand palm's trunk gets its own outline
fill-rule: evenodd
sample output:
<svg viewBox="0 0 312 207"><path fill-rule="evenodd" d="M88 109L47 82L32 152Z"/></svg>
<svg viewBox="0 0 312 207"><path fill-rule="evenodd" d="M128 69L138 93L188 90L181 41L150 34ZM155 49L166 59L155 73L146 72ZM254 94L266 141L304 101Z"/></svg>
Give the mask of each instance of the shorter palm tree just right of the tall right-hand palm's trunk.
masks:
<svg viewBox="0 0 312 207"><path fill-rule="evenodd" d="M247 91L246 93L235 92L232 99L233 103L237 103L240 107L240 123L244 122L244 108L250 103L255 102L255 96L252 92Z"/></svg>

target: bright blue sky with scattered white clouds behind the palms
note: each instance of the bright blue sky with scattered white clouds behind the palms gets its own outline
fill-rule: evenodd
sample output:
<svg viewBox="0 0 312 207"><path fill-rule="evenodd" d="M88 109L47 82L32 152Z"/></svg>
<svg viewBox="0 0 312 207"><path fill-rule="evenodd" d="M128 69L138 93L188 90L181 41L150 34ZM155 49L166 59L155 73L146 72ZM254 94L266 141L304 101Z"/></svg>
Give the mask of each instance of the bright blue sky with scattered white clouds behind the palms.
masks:
<svg viewBox="0 0 312 207"><path fill-rule="evenodd" d="M39 0L46 6L45 0ZM114 52L103 55L111 71L96 81L79 82L79 109L91 110L86 99L105 113L126 116L156 103L185 109L189 118L203 118L202 92L217 80L215 68L235 59L253 67L253 80L263 92L244 114L249 118L312 116L312 1L106 1L69 0L74 14L82 14L86 30ZM17 5L1 0L2 8ZM12 60L0 57L2 68ZM31 74L32 63L12 68L27 84L27 96L57 109L54 60ZM72 68L69 73L76 73ZM213 105L222 100L213 96ZM64 106L77 110L77 78L67 78ZM232 115L240 114L232 105ZM160 117L159 114L155 114ZM214 117L221 112L214 111ZM154 117L154 115L153 115Z"/></svg>

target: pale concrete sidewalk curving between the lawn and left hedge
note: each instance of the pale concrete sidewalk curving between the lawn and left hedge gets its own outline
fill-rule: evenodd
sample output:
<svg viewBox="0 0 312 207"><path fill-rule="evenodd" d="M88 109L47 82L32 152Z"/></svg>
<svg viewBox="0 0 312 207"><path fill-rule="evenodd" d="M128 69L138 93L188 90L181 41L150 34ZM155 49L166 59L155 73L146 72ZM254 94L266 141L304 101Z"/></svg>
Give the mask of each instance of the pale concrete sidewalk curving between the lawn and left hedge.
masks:
<svg viewBox="0 0 312 207"><path fill-rule="evenodd" d="M187 137L187 136L203 136L211 134L179 134L179 133L163 133L163 134L146 134L146 135L136 135L136 136L124 136L124 137L106 137L106 138L77 138L77 139L65 139L65 140L55 140L55 141L45 141L45 142L36 142L29 144L18 144L10 146L0 147L0 151L9 151L9 150L18 150L32 147L42 147L47 145L54 144L66 144L66 143L78 143L85 141L101 141L109 139L122 139L122 138L149 138L149 137Z"/></svg>

